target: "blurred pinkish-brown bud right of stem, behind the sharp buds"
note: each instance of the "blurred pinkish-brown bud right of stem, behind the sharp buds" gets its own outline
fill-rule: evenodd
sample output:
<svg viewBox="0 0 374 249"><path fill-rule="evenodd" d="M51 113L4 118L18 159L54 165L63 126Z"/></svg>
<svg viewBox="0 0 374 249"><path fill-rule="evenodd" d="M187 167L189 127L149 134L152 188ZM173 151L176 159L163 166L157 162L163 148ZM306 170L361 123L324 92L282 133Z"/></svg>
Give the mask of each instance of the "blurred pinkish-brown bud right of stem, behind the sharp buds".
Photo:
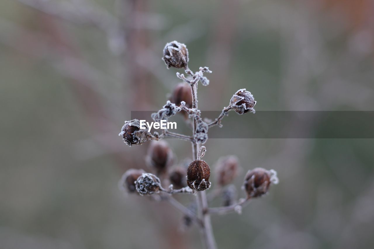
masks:
<svg viewBox="0 0 374 249"><path fill-rule="evenodd" d="M237 176L239 162L236 156L221 157L215 166L217 182L224 186L230 184Z"/></svg>

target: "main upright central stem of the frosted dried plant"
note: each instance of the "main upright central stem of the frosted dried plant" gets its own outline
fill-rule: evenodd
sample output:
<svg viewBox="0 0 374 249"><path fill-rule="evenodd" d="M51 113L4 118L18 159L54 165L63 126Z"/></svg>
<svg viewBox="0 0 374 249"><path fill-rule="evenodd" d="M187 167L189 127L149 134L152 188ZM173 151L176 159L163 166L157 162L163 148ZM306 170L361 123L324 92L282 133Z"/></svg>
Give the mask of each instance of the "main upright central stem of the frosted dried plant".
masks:
<svg viewBox="0 0 374 249"><path fill-rule="evenodd" d="M197 83L191 85L192 91L192 108L197 110ZM196 119L193 118L193 135L195 135ZM193 160L196 160L199 153L199 144L196 140L192 142L192 153ZM198 191L196 195L197 202L197 215L202 220L203 224L201 226L201 233L205 243L206 249L216 249L217 245L215 243L212 223L210 215L206 210L208 210L208 200L206 199L205 191Z"/></svg>

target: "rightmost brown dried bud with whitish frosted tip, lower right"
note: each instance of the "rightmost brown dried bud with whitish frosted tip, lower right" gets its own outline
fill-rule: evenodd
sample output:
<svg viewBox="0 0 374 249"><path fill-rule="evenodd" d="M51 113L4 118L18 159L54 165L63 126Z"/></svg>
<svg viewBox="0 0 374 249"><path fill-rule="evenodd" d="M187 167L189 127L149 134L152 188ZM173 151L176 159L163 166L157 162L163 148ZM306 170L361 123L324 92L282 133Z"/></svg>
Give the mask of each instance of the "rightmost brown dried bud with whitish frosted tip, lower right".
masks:
<svg viewBox="0 0 374 249"><path fill-rule="evenodd" d="M270 183L278 184L277 172L273 169L255 168L248 170L243 188L247 192L248 198L260 197L269 191Z"/></svg>

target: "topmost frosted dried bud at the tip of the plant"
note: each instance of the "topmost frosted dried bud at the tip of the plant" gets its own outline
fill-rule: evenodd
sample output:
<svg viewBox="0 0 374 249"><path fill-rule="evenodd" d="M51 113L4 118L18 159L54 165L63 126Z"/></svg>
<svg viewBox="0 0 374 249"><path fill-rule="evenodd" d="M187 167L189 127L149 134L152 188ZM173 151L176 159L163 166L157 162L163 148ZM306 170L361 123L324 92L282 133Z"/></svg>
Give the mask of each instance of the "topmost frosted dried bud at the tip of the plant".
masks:
<svg viewBox="0 0 374 249"><path fill-rule="evenodd" d="M163 50L163 60L168 68L186 68L188 63L188 50L186 45L177 41L166 43Z"/></svg>

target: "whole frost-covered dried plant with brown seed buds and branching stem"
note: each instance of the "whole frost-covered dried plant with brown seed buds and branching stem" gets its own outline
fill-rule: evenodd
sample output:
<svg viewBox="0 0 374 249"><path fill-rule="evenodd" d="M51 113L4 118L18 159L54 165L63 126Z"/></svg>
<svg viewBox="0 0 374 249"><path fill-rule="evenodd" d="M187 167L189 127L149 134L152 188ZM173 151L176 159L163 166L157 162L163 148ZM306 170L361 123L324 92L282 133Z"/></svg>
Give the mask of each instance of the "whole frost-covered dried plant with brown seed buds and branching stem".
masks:
<svg viewBox="0 0 374 249"><path fill-rule="evenodd" d="M140 145L148 140L153 140L148 148L146 162L150 169L156 173L145 173L144 170L129 169L122 176L119 186L128 193L150 196L152 200L166 200L184 213L184 221L186 225L196 224L202 233L203 241L206 248L216 248L214 239L211 215L224 214L235 211L241 213L242 207L249 200L263 196L268 193L271 184L277 184L278 178L275 170L266 170L263 168L255 168L249 170L244 179L242 189L246 192L246 197L235 200L237 191L234 185L230 184L238 175L239 162L235 156L227 156L218 160L216 164L217 172L217 188L207 196L205 190L211 188L209 181L210 167L201 158L206 153L205 144L208 139L208 130L215 126L222 126L221 120L228 115L230 110L234 110L237 114L255 113L254 100L251 92L246 89L240 89L230 99L230 104L223 108L221 114L213 122L207 123L201 117L201 111L197 107L197 84L202 83L203 86L209 84L209 80L203 75L204 73L212 73L208 67L200 67L199 71L193 73L188 68L188 50L185 44L179 42L167 43L163 50L163 60L168 68L183 68L184 74L177 73L177 77L190 86L190 91L184 84L179 84L174 89L171 101L156 113L151 115L155 122L167 120L169 117L177 113L187 113L188 118L192 119L192 135L183 135L170 132L165 129L161 134L154 132L151 134L148 129L140 129L140 121L137 119L126 121L122 127L120 136L129 146ZM188 123L188 119L186 122ZM165 141L159 141L165 137L179 138L191 142L193 161L188 165L187 170L183 167L171 168L173 163L173 153L171 148ZM161 179L160 179L161 178ZM163 183L171 183L168 188L163 187ZM176 189L174 187L177 187ZM196 196L196 203L184 206L172 197L173 194L186 193ZM223 200L222 207L209 207L208 201L221 196Z"/></svg>

